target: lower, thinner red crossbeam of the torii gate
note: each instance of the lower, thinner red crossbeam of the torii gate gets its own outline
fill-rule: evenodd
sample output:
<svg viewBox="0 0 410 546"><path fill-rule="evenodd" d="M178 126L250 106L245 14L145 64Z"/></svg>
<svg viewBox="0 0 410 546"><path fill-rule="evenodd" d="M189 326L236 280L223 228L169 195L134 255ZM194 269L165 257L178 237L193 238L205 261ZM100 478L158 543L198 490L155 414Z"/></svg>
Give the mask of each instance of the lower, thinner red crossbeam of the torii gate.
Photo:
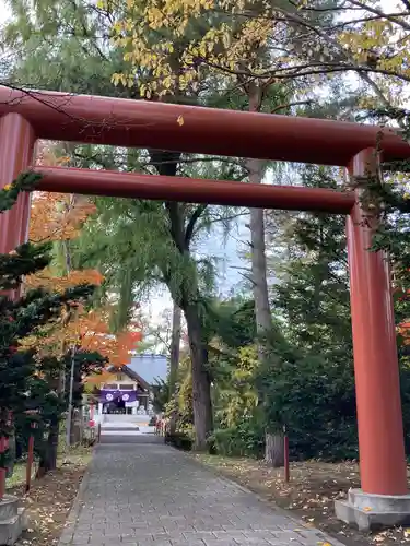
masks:
<svg viewBox="0 0 410 546"><path fill-rule="evenodd" d="M36 167L35 170L43 175L38 183L39 190L62 193L340 214L348 214L354 204L353 193L321 188L199 180L62 167Z"/></svg>

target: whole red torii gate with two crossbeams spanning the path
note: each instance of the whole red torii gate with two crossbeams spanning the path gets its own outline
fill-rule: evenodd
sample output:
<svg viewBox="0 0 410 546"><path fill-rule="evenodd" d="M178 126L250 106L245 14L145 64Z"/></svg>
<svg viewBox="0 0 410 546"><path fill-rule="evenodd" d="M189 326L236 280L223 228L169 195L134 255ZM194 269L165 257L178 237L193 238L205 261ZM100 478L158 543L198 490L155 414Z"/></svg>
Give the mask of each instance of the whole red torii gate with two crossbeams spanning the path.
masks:
<svg viewBox="0 0 410 546"><path fill-rule="evenodd" d="M153 147L348 167L353 176L410 157L395 132L349 122L0 86L0 185L31 166L36 139ZM380 144L380 133L383 134ZM370 211L358 192L36 167L45 191L347 214L362 489L407 498L390 273L368 252ZM30 195L0 216L0 252L27 239ZM376 218L374 218L376 219ZM410 512L410 510L409 510Z"/></svg>

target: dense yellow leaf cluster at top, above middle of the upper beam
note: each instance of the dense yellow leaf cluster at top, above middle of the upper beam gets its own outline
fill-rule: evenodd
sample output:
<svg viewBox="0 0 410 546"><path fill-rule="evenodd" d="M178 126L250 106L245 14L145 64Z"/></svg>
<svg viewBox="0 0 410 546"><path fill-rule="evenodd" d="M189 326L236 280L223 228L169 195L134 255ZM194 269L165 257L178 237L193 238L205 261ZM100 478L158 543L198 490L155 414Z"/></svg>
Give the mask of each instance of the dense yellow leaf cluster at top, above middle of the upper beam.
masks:
<svg viewBox="0 0 410 546"><path fill-rule="evenodd" d="M150 98L178 91L195 88L199 81L199 66L216 68L230 75L241 70L246 60L247 70L262 71L260 56L255 51L267 45L272 31L268 17L242 17L245 2L224 0L224 11L232 12L234 24L213 17L213 0L156 0L124 2L126 16L112 27L113 43L125 50L124 59L132 67L129 72L113 74L115 85L138 85L140 94ZM109 0L98 2L101 9L109 11ZM260 4L261 14L268 13L269 4ZM136 21L139 23L136 24ZM200 28L200 36L186 39L192 29ZM161 39L152 39L161 36ZM147 69L153 75L150 81L139 81L138 72Z"/></svg>

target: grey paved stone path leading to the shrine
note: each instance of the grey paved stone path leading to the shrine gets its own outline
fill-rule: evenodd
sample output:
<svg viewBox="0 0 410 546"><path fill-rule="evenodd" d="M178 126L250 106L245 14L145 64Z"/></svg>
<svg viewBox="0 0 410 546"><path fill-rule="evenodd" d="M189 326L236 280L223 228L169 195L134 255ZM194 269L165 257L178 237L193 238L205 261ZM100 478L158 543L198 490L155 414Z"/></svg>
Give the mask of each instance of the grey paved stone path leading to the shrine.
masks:
<svg viewBox="0 0 410 546"><path fill-rule="evenodd" d="M103 440L60 546L341 546L159 438Z"/></svg>

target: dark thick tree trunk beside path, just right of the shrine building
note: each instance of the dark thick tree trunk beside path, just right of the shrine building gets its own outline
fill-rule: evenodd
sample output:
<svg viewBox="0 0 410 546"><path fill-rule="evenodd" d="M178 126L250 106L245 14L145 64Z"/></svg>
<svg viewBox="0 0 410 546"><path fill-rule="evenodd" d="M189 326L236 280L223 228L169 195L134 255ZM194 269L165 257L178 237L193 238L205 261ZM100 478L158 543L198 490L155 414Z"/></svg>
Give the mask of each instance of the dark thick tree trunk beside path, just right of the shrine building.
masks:
<svg viewBox="0 0 410 546"><path fill-rule="evenodd" d="M202 339L202 324L197 304L188 302L184 308L192 369L192 408L196 451L208 450L208 435L212 431L211 380L207 371L208 348Z"/></svg>

